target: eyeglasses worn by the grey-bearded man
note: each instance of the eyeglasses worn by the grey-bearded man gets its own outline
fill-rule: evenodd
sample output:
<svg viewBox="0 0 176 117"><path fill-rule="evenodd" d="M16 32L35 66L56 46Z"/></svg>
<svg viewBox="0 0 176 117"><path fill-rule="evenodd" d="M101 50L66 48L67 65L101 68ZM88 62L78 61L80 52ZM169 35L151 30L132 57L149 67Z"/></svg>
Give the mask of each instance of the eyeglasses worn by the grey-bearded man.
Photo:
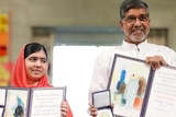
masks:
<svg viewBox="0 0 176 117"><path fill-rule="evenodd" d="M139 17L130 15L128 17L124 17L124 21L127 21L130 24L134 24L139 20L140 23L146 23L148 21L147 15L140 15Z"/></svg>

